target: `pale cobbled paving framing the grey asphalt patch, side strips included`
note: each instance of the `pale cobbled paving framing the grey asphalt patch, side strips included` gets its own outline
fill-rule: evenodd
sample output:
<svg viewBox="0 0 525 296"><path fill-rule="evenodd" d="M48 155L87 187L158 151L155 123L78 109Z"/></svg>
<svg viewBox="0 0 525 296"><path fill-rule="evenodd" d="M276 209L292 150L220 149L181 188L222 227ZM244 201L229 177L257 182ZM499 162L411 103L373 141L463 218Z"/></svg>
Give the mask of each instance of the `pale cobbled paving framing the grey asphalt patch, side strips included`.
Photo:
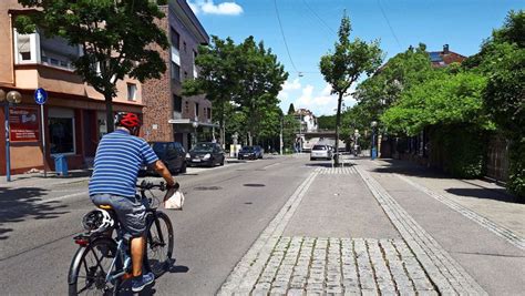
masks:
<svg viewBox="0 0 525 296"><path fill-rule="evenodd" d="M361 176L402 239L282 236L318 174ZM320 180L319 180L320 181ZM319 184L317 184L319 185ZM368 172L316 169L218 295L486 295Z"/></svg>

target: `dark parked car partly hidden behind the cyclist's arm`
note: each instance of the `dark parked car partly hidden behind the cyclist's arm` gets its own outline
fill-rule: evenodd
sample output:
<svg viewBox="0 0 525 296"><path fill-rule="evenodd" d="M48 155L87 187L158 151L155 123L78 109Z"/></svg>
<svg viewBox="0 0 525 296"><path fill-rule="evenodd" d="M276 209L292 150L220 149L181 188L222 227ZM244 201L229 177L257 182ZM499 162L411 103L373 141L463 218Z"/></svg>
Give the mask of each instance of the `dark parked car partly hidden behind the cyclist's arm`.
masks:
<svg viewBox="0 0 525 296"><path fill-rule="evenodd" d="M171 173L186 173L186 151L178 142L150 142L148 143L158 160L161 160ZM141 174L156 174L147 166L141 170Z"/></svg>

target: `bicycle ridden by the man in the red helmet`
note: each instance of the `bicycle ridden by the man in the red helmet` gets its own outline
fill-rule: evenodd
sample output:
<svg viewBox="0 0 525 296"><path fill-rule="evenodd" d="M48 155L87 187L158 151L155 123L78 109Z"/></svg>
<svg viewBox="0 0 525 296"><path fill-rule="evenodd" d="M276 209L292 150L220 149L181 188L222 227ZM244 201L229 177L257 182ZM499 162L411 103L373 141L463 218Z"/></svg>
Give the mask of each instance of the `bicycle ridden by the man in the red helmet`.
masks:
<svg viewBox="0 0 525 296"><path fill-rule="evenodd" d="M153 188L165 191L166 186L163 182L155 185L145 181L136 186L141 201L147 201L145 202L146 252L143 265L146 271L153 272L155 277L158 277L172 262L173 226L169 217L153 206L156 197L153 193L153 197L146 197L146 191L150 193ZM99 210L107 212L113 226L109 229L93 231L92 226L84 225L87 232L73 237L80 247L73 256L69 271L69 295L117 295L124 282L132 277L130 242L123 236L116 214L111 206L101 205ZM115 237L113 233L116 233Z"/></svg>

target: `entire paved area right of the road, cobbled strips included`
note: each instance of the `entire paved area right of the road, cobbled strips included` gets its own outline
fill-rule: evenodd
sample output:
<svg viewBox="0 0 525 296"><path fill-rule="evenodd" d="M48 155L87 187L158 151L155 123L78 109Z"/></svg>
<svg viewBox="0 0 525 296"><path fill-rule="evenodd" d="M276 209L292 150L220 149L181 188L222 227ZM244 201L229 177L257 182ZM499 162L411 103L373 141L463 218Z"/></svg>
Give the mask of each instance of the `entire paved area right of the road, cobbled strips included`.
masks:
<svg viewBox="0 0 525 296"><path fill-rule="evenodd" d="M523 293L522 205L503 202L491 216L497 223L476 220L482 216L474 210L509 197L492 184L472 185L444 176L428 182L424 171L402 163L352 163L337 169L319 163L218 294ZM470 207L462 206L449 195L463 197L450 188L465 184L483 191L482 196L498 197L471 197ZM443 190L449 195L439 200ZM507 220L516 220L508 224L512 229L498 224Z"/></svg>

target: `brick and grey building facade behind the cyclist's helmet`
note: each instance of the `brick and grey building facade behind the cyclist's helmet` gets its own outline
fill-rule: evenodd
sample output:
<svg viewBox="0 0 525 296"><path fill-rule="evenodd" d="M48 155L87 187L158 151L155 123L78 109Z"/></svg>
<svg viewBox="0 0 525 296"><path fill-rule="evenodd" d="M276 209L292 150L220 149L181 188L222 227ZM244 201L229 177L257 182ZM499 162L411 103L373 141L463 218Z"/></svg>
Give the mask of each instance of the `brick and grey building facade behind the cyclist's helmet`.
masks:
<svg viewBox="0 0 525 296"><path fill-rule="evenodd" d="M169 49L162 50L166 72L161 79L143 84L144 137L147 141L177 141L187 150L197 141L215 139L212 103L204 95L184 96L182 83L195 79L198 47L208 44L209 37L184 0L172 0L162 10L166 18L158 21L169 39Z"/></svg>

